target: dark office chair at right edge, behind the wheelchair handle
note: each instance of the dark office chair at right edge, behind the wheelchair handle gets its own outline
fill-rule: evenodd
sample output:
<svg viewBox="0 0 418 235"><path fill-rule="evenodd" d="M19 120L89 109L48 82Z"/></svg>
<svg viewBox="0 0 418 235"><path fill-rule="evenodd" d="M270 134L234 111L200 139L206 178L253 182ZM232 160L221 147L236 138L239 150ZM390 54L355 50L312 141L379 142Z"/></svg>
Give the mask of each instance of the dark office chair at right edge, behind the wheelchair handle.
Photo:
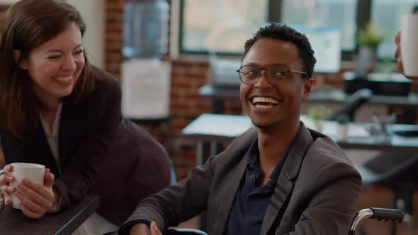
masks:
<svg viewBox="0 0 418 235"><path fill-rule="evenodd" d="M356 166L363 185L383 185L393 193L393 208L405 212L405 222L412 224L412 201L418 188L418 153L382 153ZM396 234L396 223L390 224L390 234Z"/></svg>

